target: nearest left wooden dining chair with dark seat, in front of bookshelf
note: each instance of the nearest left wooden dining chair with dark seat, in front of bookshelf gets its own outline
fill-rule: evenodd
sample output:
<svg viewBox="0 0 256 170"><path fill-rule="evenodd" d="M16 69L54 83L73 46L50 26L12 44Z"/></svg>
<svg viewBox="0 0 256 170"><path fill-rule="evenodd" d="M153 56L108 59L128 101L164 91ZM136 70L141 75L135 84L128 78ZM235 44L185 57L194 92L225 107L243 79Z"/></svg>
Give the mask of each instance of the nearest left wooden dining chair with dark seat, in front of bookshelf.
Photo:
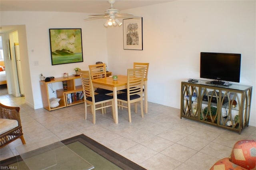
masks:
<svg viewBox="0 0 256 170"><path fill-rule="evenodd" d="M101 109L102 114L106 113L107 107L112 107L112 115L114 113L113 109L113 96L109 96L106 94L94 94L94 88L92 85L92 77L90 75L90 71L79 71L80 78L82 81L82 87L84 92L84 105L85 105L85 119L87 119L87 104L91 106L93 120L92 123L96 123L96 110ZM110 102L111 105L107 105ZM96 105L101 105L96 108ZM114 115L113 115L114 117Z"/></svg>

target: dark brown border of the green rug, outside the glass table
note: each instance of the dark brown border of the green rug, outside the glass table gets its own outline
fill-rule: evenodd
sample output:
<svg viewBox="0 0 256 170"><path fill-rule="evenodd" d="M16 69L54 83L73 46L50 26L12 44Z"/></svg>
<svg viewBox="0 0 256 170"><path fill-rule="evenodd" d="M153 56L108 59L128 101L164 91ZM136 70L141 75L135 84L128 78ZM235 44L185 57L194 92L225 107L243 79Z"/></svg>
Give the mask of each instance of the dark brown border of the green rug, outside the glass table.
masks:
<svg viewBox="0 0 256 170"><path fill-rule="evenodd" d="M65 140L62 140L61 142L65 145L71 144L73 142L81 142L94 152L100 154L116 166L124 169L124 170L146 170L142 166L132 162L131 160L125 158L124 156L114 152L113 150L107 148L106 146L96 142L92 138L89 138L88 136L84 134L80 134ZM22 161L22 158L18 155L18 161ZM1 160L1 166L9 166L10 164L13 164L17 162L17 156L13 156L11 158L7 158L5 160Z"/></svg>

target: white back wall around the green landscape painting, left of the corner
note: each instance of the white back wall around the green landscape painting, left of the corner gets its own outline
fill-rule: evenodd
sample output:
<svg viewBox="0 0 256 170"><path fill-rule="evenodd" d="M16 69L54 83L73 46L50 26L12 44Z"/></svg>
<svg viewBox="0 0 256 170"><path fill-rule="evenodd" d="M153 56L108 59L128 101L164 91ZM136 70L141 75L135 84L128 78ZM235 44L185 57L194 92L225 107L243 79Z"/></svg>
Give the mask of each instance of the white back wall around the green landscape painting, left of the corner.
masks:
<svg viewBox="0 0 256 170"><path fill-rule="evenodd" d="M33 101L29 103L34 109L42 108L40 73L46 77L61 77L65 72L70 75L75 73L75 67L87 70L88 65L95 64L96 61L107 63L106 29L101 22L84 22L84 18L86 14L81 13L1 12L1 26L26 25L29 67L23 69L30 70L26 71L29 74L25 76L31 77L32 87L25 94L33 95ZM51 65L49 28L82 28L84 62ZM34 64L35 61L38 61L38 65Z"/></svg>

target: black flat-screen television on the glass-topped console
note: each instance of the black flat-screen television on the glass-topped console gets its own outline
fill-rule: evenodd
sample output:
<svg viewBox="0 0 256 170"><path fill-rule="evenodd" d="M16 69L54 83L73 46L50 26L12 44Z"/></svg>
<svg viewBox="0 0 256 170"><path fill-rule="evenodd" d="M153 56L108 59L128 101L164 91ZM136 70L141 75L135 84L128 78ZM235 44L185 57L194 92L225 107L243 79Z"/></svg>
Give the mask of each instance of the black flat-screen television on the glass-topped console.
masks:
<svg viewBox="0 0 256 170"><path fill-rule="evenodd" d="M240 82L241 54L200 53L200 77L217 81Z"/></svg>

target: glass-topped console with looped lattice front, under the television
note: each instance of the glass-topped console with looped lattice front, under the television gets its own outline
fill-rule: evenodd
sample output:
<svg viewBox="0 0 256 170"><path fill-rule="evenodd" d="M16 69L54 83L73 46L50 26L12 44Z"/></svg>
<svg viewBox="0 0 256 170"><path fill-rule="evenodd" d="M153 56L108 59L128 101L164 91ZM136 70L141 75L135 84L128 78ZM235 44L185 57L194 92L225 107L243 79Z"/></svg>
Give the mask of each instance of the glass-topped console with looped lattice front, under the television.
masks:
<svg viewBox="0 0 256 170"><path fill-rule="evenodd" d="M180 119L185 117L241 134L249 124L252 86L206 82L181 82Z"/></svg>

